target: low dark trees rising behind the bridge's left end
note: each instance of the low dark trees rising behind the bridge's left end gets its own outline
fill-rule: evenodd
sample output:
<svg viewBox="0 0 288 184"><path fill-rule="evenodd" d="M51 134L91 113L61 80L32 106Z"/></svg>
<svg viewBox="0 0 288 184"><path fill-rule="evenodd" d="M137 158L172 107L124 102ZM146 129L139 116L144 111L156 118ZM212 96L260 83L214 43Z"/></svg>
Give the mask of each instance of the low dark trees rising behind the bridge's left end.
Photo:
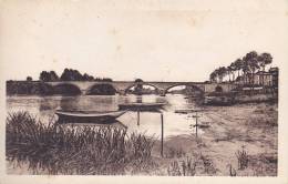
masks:
<svg viewBox="0 0 288 184"><path fill-rule="evenodd" d="M32 81L31 76L27 76L28 81ZM110 78L94 78L88 73L80 73L78 70L64 69L59 76L54 71L42 71L39 76L40 81L53 82L53 81L105 81L111 82Z"/></svg>

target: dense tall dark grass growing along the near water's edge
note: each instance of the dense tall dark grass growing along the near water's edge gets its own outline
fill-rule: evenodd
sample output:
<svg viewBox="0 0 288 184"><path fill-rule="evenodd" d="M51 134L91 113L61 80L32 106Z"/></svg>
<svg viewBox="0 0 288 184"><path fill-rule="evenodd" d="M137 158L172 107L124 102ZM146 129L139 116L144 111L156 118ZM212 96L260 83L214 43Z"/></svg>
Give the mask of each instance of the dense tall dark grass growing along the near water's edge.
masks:
<svg viewBox="0 0 288 184"><path fill-rule="evenodd" d="M154 166L153 140L112 127L42 124L27 112L7 117L7 160L34 173L126 174Z"/></svg>

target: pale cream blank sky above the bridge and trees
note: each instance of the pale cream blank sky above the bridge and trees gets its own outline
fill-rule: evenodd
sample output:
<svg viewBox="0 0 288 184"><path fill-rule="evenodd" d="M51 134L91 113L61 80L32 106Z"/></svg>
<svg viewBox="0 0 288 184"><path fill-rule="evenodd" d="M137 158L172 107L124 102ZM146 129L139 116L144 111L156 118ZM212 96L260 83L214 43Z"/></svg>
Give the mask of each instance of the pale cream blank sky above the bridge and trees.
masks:
<svg viewBox="0 0 288 184"><path fill-rule="evenodd" d="M288 59L286 0L2 0L7 80L65 68L100 78L208 80L249 51Z"/></svg>

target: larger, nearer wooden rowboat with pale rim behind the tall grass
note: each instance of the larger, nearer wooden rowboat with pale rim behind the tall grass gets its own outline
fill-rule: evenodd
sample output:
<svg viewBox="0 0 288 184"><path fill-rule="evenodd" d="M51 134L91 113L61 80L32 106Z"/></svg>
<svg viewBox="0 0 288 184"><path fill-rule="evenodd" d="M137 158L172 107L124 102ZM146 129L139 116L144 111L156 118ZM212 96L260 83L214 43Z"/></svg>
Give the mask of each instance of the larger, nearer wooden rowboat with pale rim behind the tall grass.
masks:
<svg viewBox="0 0 288 184"><path fill-rule="evenodd" d="M123 115L126 111L63 111L56 110L59 122L69 123L110 123Z"/></svg>

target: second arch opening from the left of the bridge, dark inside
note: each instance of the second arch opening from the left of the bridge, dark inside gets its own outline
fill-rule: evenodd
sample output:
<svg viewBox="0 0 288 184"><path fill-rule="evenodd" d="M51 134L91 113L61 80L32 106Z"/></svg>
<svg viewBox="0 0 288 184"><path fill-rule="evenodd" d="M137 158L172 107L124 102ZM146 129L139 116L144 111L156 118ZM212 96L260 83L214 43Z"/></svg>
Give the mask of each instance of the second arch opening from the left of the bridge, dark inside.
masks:
<svg viewBox="0 0 288 184"><path fill-rule="evenodd" d="M96 83L86 90L86 95L114 95L119 90L111 83Z"/></svg>

